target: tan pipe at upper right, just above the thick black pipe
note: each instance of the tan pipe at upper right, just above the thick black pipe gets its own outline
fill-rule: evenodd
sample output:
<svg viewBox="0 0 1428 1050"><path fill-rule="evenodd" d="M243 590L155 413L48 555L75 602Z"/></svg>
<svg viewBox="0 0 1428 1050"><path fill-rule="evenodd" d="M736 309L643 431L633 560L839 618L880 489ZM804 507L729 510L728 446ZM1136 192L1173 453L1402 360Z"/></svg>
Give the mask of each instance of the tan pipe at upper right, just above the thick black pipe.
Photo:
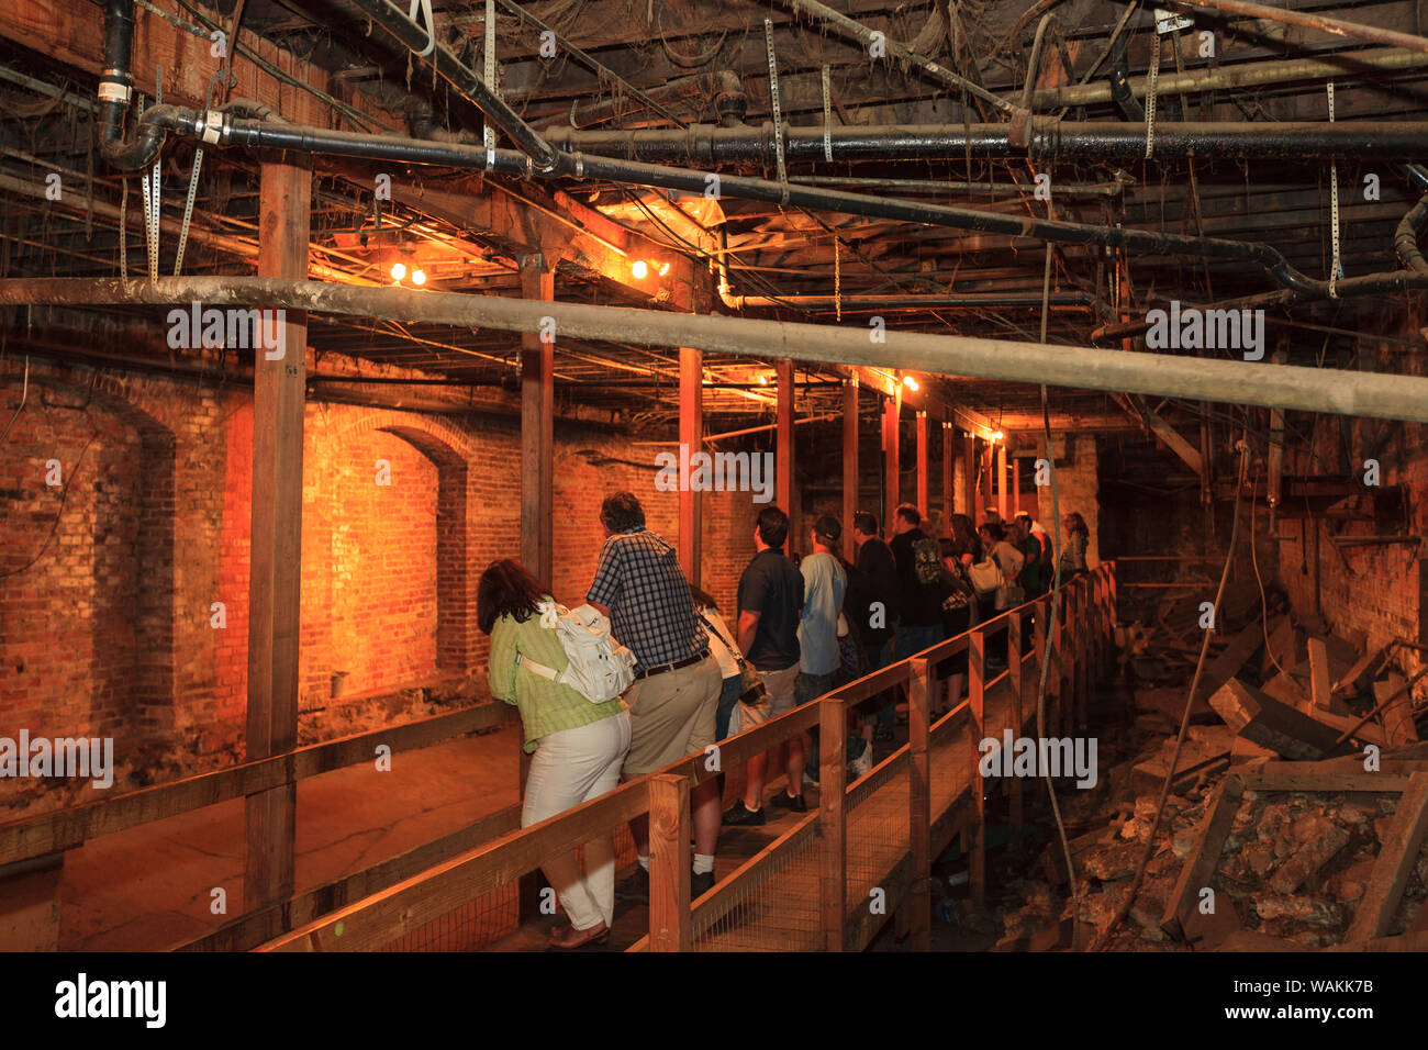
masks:
<svg viewBox="0 0 1428 1050"><path fill-rule="evenodd" d="M1339 51L1322 59L1285 59L1274 61L1245 61L1220 69L1195 69L1184 73L1161 70L1155 80L1158 94L1180 91L1218 91L1244 87L1262 87L1295 80L1328 80L1335 77L1358 77L1367 70L1391 73L1428 66L1428 54L1408 50ZM1127 80L1127 87L1137 99L1145 97L1148 77ZM1108 83L1070 84L1042 87L1031 97L1038 110L1052 110L1072 106L1094 106L1114 100ZM1157 124L1157 131L1160 124ZM1157 144L1158 146L1158 144Z"/></svg>

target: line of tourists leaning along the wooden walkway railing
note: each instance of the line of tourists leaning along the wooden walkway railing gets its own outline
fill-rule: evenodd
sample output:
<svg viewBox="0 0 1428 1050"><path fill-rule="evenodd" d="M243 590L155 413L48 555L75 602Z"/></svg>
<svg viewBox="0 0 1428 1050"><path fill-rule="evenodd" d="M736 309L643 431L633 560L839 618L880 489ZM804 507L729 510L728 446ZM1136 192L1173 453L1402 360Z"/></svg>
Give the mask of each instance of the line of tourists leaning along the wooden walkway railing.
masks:
<svg viewBox="0 0 1428 1050"><path fill-rule="evenodd" d="M990 514L980 529L954 514L950 534L932 539L918 509L902 504L884 541L877 517L860 513L851 523L851 564L837 553L843 523L824 514L808 531L811 553L795 566L785 553L788 514L768 504L754 523L757 553L740 579L731 629L713 596L690 586L674 546L645 527L635 496L608 496L600 520L605 541L585 603L634 656L634 683L621 697L591 703L533 670L558 673L567 664L550 630L550 587L510 559L481 574L477 619L491 640L490 691L520 710L531 753L523 827L791 711L833 690L840 673L855 677L922 651L1042 593L1051 579L1050 539L1028 514L1010 524ZM1085 523L1072 513L1064 524L1062 576L1085 571ZM947 707L958 701L965 670L965 653L938 667ZM871 764L873 740L892 739L894 701L877 700L850 741L861 771ZM934 713L942 709L938 703ZM854 756L851 743L860 737ZM811 766L815 776L817 763ZM721 827L765 823L764 786L780 773L787 786L770 804L807 811L801 737L748 760L744 796L727 813L721 779L691 789L693 897L714 884ZM608 834L584 844L584 870L574 853L541 866L570 920L553 930L553 947L601 943L610 936L615 897L648 900L648 820L633 820L630 831L640 863L618 887Z"/></svg>

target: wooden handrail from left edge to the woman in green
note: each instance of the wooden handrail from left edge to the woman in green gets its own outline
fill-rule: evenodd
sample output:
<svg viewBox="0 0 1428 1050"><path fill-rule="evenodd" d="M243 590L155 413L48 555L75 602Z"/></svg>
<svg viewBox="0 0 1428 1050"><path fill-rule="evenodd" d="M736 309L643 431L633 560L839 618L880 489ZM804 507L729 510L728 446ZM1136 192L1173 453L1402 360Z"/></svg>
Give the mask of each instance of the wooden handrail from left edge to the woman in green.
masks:
<svg viewBox="0 0 1428 1050"><path fill-rule="evenodd" d="M113 799L99 799L83 806L11 820L0 824L0 864L74 849L104 834L241 799L344 766L373 761L377 744L387 744L393 751L428 747L463 733L494 729L514 717L517 717L516 709L510 704L476 704L401 726L356 733L267 759L197 773Z"/></svg>

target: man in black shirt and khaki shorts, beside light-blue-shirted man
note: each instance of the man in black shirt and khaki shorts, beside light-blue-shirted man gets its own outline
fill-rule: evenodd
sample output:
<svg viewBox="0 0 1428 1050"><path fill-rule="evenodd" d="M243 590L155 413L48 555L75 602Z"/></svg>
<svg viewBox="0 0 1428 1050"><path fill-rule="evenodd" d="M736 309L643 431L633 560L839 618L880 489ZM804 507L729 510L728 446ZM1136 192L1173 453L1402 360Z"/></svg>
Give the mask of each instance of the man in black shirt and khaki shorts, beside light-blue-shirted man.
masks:
<svg viewBox="0 0 1428 1050"><path fill-rule="evenodd" d="M778 717L794 709L794 683L798 679L798 621L803 619L803 574L784 557L788 539L788 514L770 504L758 511L754 526L754 547L758 550L738 580L738 647L744 650L768 690L767 707L738 709L738 729ZM803 737L790 740L777 751L775 766L783 761L788 774L788 789L775 800L788 809L805 807L803 801L804 746ZM744 799L724 814L724 824L763 824L764 780L768 774L770 753L748 760L748 781Z"/></svg>

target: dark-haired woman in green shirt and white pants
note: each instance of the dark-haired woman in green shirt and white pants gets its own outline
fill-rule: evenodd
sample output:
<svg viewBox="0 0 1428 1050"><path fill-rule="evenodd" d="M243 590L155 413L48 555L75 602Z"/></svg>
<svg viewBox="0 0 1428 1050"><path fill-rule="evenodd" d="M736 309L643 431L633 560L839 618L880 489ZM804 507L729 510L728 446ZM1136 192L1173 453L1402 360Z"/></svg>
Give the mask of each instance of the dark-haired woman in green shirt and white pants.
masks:
<svg viewBox="0 0 1428 1050"><path fill-rule="evenodd" d="M528 666L565 670L554 627L555 601L518 563L503 559L481 573L477 621L491 636L491 696L514 704L531 756L521 827L538 824L620 783L630 750L630 713L620 697L594 704L570 686ZM585 871L574 853L553 857L541 871L555 889L568 926L551 931L551 947L578 949L610 937L615 907L615 850L608 833L584 846Z"/></svg>

